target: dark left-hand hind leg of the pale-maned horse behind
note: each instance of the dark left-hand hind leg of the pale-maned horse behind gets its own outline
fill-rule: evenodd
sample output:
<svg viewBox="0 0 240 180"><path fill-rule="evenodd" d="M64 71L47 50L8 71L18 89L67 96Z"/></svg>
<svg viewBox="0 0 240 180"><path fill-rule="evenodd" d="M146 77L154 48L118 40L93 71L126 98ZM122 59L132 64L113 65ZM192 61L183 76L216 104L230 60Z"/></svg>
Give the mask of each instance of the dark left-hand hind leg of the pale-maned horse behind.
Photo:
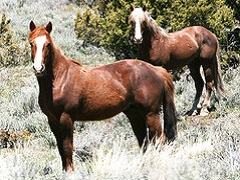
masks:
<svg viewBox="0 0 240 180"><path fill-rule="evenodd" d="M201 73L200 73L200 64L199 63L191 63L189 65L190 74L194 80L195 88L196 88L196 95L194 99L193 106L191 110L188 112L188 115L196 115L198 114L198 110L201 109L201 97L202 97L202 91L204 87L204 81L202 79Z"/></svg>

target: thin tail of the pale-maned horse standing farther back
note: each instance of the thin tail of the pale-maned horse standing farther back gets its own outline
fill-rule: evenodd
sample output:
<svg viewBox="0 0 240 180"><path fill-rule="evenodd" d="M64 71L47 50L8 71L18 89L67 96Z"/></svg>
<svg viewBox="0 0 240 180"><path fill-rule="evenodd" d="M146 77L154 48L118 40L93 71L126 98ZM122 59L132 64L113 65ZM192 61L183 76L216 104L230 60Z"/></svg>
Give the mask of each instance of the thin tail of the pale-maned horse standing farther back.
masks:
<svg viewBox="0 0 240 180"><path fill-rule="evenodd" d="M212 66L213 66L214 86L217 90L217 93L222 94L225 92L225 89L222 81L222 74L221 74L221 67L220 67L220 47L218 43L217 43L216 56L214 58L214 62Z"/></svg>

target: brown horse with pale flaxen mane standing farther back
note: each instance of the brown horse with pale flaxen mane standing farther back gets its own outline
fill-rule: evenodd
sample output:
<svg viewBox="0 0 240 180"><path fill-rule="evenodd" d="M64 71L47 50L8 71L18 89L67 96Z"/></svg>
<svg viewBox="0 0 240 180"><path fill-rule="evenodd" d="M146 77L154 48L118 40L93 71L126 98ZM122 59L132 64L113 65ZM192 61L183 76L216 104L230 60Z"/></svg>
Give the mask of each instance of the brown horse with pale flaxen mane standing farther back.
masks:
<svg viewBox="0 0 240 180"><path fill-rule="evenodd" d="M158 26L146 11L146 7L133 8L129 21L133 25L133 36L138 44L138 59L153 65L163 66L167 70L188 65L197 90L189 115L200 112L208 114L213 86L218 93L223 92L221 69L219 65L219 44L216 36L201 26L185 28L167 33ZM202 104L204 81L200 74L203 67L206 97Z"/></svg>

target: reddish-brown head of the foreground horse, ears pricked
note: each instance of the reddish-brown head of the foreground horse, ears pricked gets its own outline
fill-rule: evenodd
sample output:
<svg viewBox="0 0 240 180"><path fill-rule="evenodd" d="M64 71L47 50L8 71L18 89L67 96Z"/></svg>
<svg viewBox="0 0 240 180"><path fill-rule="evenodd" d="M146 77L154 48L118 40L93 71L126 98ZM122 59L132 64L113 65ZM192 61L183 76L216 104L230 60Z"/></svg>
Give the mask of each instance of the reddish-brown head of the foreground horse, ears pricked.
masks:
<svg viewBox="0 0 240 180"><path fill-rule="evenodd" d="M33 21L29 25L29 42L31 45L31 57L33 69L36 76L44 76L46 65L49 63L51 55L51 37L52 23L49 22L46 27L37 27Z"/></svg>

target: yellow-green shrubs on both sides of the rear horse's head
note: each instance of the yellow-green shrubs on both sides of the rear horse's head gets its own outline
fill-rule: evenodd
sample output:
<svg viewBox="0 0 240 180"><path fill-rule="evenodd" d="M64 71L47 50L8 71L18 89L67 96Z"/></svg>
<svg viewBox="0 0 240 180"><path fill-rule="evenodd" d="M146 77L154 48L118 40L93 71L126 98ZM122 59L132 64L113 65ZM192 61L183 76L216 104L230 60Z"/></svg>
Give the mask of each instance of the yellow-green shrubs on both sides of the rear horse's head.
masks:
<svg viewBox="0 0 240 180"><path fill-rule="evenodd" d="M104 47L117 59L136 56L136 47L129 43L130 5L146 5L157 23L169 31L186 26L204 26L217 35L220 43L225 43L224 30L233 26L234 10L237 11L229 8L225 0L75 1L87 6L86 11L79 12L75 18L77 37L84 44Z"/></svg>

